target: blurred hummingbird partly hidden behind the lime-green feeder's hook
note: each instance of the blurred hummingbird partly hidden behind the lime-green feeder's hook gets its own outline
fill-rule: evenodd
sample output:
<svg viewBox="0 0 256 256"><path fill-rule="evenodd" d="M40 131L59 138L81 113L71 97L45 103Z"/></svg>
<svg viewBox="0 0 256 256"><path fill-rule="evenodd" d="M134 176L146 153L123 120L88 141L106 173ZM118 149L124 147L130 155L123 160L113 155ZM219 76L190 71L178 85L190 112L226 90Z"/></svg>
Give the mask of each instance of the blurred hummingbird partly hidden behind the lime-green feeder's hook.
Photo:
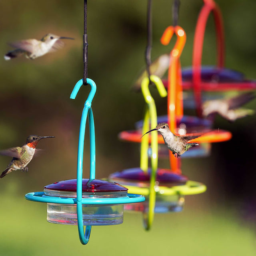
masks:
<svg viewBox="0 0 256 256"><path fill-rule="evenodd" d="M149 67L150 74L156 75L159 78L162 78L164 76L166 70L168 70L169 64L170 64L170 55L169 54L160 55L158 58L156 58L156 60L154 60L154 62L151 63L151 65ZM148 73L146 70L144 70L142 72L142 74L140 74L139 78L136 80L136 82L133 86L133 89L135 91L140 90L141 82L142 82L143 78L145 78L147 76L148 76Z"/></svg>

